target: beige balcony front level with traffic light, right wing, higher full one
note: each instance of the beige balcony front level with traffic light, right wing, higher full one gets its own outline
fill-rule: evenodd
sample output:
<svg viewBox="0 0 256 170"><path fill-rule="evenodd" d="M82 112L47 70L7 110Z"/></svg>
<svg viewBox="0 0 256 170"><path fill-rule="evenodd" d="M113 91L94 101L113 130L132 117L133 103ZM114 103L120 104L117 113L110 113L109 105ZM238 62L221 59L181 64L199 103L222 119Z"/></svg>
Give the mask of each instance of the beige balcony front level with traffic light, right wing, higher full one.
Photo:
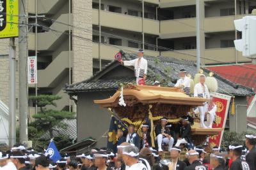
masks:
<svg viewBox="0 0 256 170"><path fill-rule="evenodd" d="M244 15L237 15L237 19ZM204 20L204 30L207 32L235 31L235 16L210 17ZM196 18L183 18L176 20L163 20L160 22L160 37L182 38L196 36Z"/></svg>

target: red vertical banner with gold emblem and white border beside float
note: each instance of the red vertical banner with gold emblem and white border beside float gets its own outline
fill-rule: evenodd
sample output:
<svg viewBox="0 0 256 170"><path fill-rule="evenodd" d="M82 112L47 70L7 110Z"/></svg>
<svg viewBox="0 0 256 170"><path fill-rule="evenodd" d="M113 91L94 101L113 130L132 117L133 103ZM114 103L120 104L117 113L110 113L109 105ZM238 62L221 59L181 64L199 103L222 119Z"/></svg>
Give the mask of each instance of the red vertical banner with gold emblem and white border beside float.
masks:
<svg viewBox="0 0 256 170"><path fill-rule="evenodd" d="M231 96L227 96L224 94L212 93L212 100L214 104L217 106L216 110L216 117L215 117L215 124L212 124L212 128L223 128L225 129L227 115L228 115L228 108L230 104ZM223 131L219 132L218 135L211 136L209 139L209 143L211 147L213 146L220 146L221 139L223 136Z"/></svg>

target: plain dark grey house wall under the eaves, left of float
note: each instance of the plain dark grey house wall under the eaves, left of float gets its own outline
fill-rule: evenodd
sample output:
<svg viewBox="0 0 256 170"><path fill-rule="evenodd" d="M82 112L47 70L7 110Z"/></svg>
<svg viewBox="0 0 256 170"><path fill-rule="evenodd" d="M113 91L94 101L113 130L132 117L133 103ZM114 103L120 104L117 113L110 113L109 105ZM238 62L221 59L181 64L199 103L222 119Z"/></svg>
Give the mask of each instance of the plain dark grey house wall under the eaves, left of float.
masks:
<svg viewBox="0 0 256 170"><path fill-rule="evenodd" d="M95 99L106 99L113 95L115 91L109 92L84 92L77 96L77 141L86 138L98 139L97 148L107 145L109 122L111 115L106 108L100 108L94 104Z"/></svg>

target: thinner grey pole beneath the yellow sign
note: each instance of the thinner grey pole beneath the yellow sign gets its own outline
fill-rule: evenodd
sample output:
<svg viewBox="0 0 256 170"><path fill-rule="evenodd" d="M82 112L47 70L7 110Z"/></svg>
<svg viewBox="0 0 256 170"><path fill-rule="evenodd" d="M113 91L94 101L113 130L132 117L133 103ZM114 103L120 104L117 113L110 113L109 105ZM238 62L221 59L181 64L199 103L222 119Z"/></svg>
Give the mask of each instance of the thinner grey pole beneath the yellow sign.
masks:
<svg viewBox="0 0 256 170"><path fill-rule="evenodd" d="M15 38L10 38L9 49L9 62L10 62L10 109L9 109L9 146L13 146L16 141L16 59L15 59Z"/></svg>

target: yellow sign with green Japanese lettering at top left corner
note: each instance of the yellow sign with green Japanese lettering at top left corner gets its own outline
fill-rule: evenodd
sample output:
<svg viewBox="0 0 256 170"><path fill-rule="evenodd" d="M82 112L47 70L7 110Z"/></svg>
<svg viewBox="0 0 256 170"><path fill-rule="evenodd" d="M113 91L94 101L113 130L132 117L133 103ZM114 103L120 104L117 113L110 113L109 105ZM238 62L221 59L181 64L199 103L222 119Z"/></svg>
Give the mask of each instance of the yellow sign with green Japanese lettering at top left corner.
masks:
<svg viewBox="0 0 256 170"><path fill-rule="evenodd" d="M0 38L19 36L19 0L0 0Z"/></svg>

